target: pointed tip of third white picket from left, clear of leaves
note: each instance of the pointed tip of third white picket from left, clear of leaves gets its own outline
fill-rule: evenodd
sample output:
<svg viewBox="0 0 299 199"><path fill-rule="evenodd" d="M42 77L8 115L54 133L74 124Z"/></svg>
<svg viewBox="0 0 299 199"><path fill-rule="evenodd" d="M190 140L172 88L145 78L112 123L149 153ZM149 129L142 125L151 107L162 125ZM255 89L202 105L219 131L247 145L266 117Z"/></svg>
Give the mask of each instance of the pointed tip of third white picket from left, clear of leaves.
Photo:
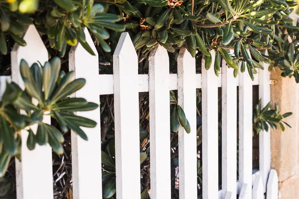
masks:
<svg viewBox="0 0 299 199"><path fill-rule="evenodd" d="M130 56L131 58L134 56L137 59L136 50L128 32L121 34L113 56L118 55Z"/></svg>

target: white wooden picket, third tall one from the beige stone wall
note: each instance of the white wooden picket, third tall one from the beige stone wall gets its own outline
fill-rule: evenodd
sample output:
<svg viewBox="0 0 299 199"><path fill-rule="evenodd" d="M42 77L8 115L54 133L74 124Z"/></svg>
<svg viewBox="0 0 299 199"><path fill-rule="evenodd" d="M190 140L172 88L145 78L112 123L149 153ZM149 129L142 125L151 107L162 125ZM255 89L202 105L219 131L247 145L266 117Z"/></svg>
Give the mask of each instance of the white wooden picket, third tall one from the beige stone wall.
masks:
<svg viewBox="0 0 299 199"><path fill-rule="evenodd" d="M222 59L222 198L236 199L237 183L237 84L234 69Z"/></svg>

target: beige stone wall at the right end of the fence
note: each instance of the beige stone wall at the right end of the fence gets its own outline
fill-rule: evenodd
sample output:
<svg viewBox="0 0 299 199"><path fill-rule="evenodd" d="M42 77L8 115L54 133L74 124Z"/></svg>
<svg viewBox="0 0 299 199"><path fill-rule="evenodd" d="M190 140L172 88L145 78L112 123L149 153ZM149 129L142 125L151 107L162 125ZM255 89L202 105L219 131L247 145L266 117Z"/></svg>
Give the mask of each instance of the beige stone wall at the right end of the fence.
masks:
<svg viewBox="0 0 299 199"><path fill-rule="evenodd" d="M292 128L280 127L271 132L271 167L277 170L281 199L299 199L299 84L294 78L283 78L279 68L271 72L271 101L282 113L293 112L286 118Z"/></svg>

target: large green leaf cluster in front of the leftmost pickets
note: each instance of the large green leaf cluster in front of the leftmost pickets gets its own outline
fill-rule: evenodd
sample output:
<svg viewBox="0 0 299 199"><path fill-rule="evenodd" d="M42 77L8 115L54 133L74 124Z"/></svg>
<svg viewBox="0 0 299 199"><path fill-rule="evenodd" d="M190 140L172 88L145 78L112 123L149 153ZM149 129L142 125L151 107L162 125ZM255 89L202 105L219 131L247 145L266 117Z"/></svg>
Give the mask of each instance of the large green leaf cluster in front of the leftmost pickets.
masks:
<svg viewBox="0 0 299 199"><path fill-rule="evenodd" d="M0 102L0 177L8 167L10 158L21 160L21 131L28 131L27 147L29 150L39 145L49 144L54 152L63 154L63 133L72 129L81 138L87 136L80 128L93 128L97 123L91 119L77 116L74 111L88 111L98 104L83 98L67 96L80 90L85 79L73 80L74 72L65 74L60 71L60 59L53 58L40 67L34 63L31 68L22 60L20 72L25 84L22 91L15 83L6 84L6 90ZM32 100L36 99L37 104ZM43 117L49 115L55 119L62 132L55 126L44 123ZM36 135L31 125L37 124ZM24 144L24 143L23 143Z"/></svg>

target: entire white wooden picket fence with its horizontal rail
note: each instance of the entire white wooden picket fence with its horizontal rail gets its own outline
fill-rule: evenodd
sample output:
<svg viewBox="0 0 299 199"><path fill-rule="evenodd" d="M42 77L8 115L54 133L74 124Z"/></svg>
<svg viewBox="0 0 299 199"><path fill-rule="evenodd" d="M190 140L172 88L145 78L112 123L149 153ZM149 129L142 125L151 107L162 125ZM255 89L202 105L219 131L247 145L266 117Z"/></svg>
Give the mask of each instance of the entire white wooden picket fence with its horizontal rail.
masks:
<svg viewBox="0 0 299 199"><path fill-rule="evenodd" d="M87 42L96 49L85 29ZM19 63L48 60L47 50L33 25L24 35L25 47L11 53L11 80L23 88ZM215 52L211 51L212 58ZM270 133L260 133L260 171L252 175L252 86L259 85L263 105L270 101L268 64L251 81L247 72L233 77L222 61L219 78L213 69L195 73L195 59L185 50L177 58L177 74L169 74L166 50L158 46L149 56L149 75L138 75L138 57L128 33L122 33L114 53L114 75L99 75L98 56L79 44L71 49L69 68L86 86L76 93L99 103L100 95L114 94L117 199L140 199L139 92L149 92L150 198L170 199L169 90L178 91L191 133L179 129L179 198L197 199L196 89L202 90L203 199L278 199L278 178L271 170ZM214 62L214 61L213 61ZM213 65L213 63L212 63ZM204 60L202 61L204 66ZM0 77L0 93L10 77ZM237 181L237 86L239 86L239 181ZM222 88L222 191L218 190L218 87ZM0 96L1 98L1 96ZM85 128L89 141L72 133L73 198L101 199L100 110L78 112L98 122ZM45 118L50 122L50 118ZM23 143L27 134L22 132ZM49 146L29 151L22 146L16 160L17 199L53 199L52 155Z"/></svg>

